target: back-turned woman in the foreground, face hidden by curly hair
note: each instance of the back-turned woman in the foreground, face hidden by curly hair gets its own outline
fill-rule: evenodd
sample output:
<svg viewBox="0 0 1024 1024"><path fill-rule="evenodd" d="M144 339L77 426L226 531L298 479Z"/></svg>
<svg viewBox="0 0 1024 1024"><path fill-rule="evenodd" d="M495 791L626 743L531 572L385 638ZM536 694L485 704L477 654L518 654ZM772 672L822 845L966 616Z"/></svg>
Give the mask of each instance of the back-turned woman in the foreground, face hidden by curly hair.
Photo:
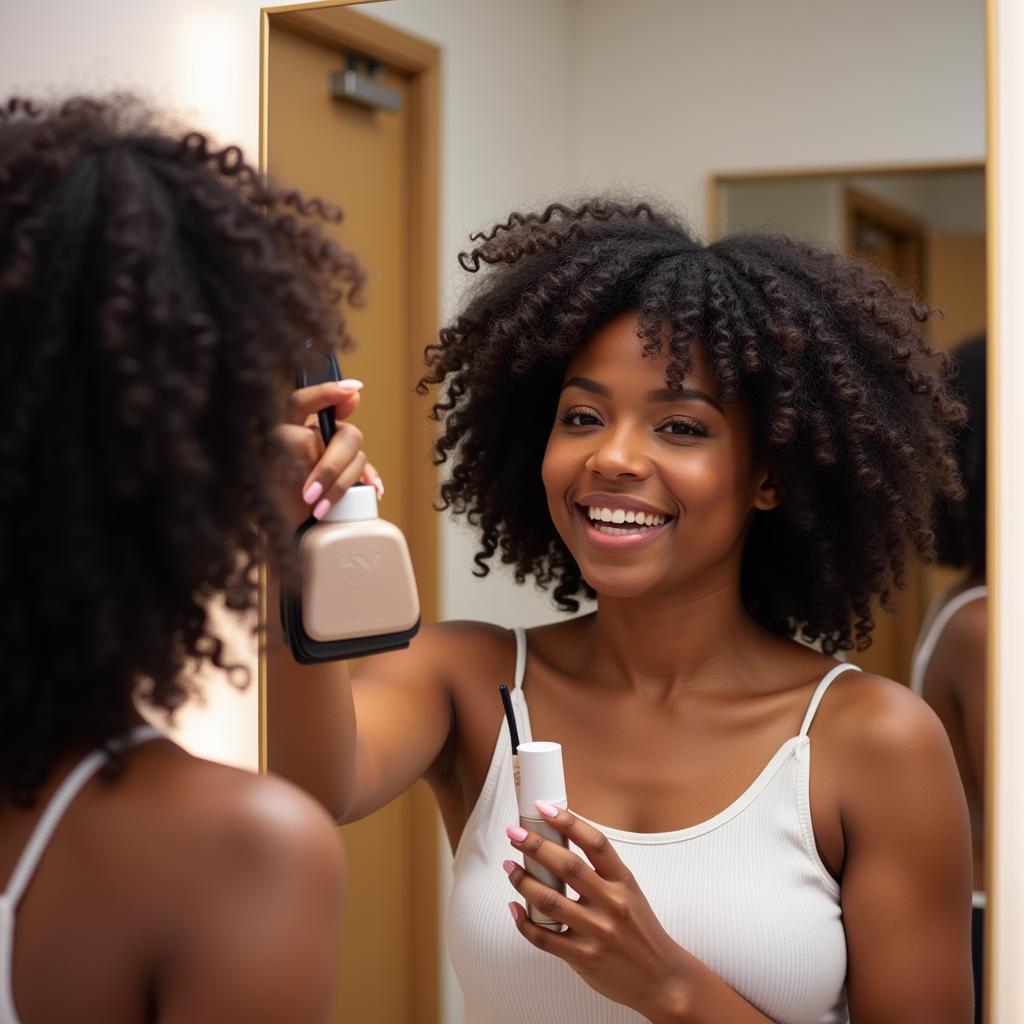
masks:
<svg viewBox="0 0 1024 1024"><path fill-rule="evenodd" d="M0 109L3 1024L329 1019L329 818L136 710L245 682L212 606L287 551L280 389L358 283L311 212L129 99Z"/></svg>

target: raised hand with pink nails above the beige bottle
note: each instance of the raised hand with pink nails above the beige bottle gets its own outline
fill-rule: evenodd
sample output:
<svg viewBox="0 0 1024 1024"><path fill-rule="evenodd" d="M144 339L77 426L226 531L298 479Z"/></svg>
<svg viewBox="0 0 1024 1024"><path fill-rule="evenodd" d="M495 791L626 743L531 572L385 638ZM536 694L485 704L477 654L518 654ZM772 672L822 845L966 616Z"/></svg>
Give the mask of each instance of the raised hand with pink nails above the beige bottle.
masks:
<svg viewBox="0 0 1024 1024"><path fill-rule="evenodd" d="M353 483L369 483L384 494L380 473L367 461L362 432L344 422L359 404L360 381L328 381L291 393L285 422L278 428L294 471L288 474L283 500L292 525L298 528L310 515L322 519ZM324 444L316 414L334 407L337 430Z"/></svg>

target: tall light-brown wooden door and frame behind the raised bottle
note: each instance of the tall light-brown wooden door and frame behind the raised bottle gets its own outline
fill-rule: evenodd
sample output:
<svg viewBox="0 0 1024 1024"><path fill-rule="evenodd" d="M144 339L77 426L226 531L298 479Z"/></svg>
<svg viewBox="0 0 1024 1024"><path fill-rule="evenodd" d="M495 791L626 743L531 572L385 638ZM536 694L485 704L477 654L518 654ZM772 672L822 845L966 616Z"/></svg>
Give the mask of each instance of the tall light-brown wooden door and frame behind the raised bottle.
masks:
<svg viewBox="0 0 1024 1024"><path fill-rule="evenodd" d="M415 59L395 67L395 51ZM356 58L364 72L368 59L379 61L374 77L394 90L399 110L332 96L331 74ZM331 231L368 269L367 306L345 312L358 348L342 368L366 383L354 422L385 483L381 514L409 539L424 618L435 617L430 431L413 387L436 328L436 188L425 195L436 184L427 138L436 117L425 117L423 75L426 66L436 73L437 51L344 7L318 7L270 13L264 61L265 166L271 178L344 210ZM426 260L417 258L424 253ZM420 783L343 835L349 890L338 1020L432 1024L439 964L433 800Z"/></svg>

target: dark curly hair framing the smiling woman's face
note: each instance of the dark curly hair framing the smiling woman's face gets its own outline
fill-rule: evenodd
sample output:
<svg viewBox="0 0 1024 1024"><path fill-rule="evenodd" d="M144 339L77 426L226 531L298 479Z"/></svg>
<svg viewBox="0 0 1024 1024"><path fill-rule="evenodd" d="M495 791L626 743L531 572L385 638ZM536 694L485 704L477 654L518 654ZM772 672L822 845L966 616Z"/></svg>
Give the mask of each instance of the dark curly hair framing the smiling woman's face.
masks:
<svg viewBox="0 0 1024 1024"><path fill-rule="evenodd" d="M872 597L891 607L909 551L930 557L937 494L959 495L950 428L964 410L929 310L885 276L782 237L711 245L646 203L593 200L513 213L460 262L485 269L427 349L439 385L441 497L479 530L477 574L499 553L564 610L593 597L547 510L541 464L565 367L636 310L644 351L678 387L699 344L726 401L745 400L781 507L757 512L741 591L752 616L822 649L863 648Z"/></svg>

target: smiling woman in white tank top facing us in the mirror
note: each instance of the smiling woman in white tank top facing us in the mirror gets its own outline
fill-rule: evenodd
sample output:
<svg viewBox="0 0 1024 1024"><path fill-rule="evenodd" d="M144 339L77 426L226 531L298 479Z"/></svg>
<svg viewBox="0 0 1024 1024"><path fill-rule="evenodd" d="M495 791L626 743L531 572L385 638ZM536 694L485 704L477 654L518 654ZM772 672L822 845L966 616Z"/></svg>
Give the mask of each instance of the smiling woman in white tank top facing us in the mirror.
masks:
<svg viewBox="0 0 1024 1024"><path fill-rule="evenodd" d="M643 204L555 205L474 242L464 266L487 272L428 350L442 496L481 570L498 554L596 610L425 628L351 682L279 645L271 765L342 820L430 782L473 1024L966 1024L948 741L905 687L834 656L867 645L872 598L957 493L963 410L925 311L838 256L705 246ZM328 397L293 396L296 452ZM295 521L360 450L343 429L311 460ZM517 825L503 682L520 738L563 746L570 810L539 811L569 851Z"/></svg>

